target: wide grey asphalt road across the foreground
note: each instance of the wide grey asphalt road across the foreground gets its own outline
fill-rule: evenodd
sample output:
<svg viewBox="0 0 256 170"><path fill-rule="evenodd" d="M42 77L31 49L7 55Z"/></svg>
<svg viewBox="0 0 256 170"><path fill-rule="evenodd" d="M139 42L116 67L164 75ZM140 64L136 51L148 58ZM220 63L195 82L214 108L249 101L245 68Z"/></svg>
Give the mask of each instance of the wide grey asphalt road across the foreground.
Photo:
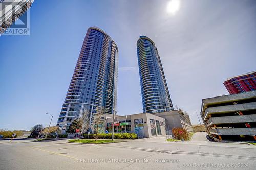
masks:
<svg viewBox="0 0 256 170"><path fill-rule="evenodd" d="M157 137L101 145L0 141L0 169L256 169L255 146L202 136L189 142Z"/></svg>

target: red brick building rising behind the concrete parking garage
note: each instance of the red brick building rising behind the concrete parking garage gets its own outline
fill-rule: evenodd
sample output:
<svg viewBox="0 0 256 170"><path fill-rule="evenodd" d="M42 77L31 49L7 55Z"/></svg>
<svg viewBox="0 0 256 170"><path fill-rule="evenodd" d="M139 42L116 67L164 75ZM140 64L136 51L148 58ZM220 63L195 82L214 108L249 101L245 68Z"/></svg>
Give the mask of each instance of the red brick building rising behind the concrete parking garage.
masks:
<svg viewBox="0 0 256 170"><path fill-rule="evenodd" d="M256 71L229 78L224 83L229 94L256 90Z"/></svg>

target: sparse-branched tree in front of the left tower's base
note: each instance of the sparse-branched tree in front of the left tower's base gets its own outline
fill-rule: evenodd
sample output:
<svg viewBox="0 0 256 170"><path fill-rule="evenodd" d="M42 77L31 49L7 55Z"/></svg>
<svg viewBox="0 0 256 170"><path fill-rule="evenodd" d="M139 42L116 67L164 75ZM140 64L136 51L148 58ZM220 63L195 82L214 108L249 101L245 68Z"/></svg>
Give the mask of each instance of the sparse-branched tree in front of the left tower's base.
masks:
<svg viewBox="0 0 256 170"><path fill-rule="evenodd" d="M90 115L90 112L88 110L84 110L82 113L82 116L80 118L76 118L74 122L70 125L70 131L76 130L76 129L79 130L78 140L80 140L81 134L86 132L90 127L89 115Z"/></svg>

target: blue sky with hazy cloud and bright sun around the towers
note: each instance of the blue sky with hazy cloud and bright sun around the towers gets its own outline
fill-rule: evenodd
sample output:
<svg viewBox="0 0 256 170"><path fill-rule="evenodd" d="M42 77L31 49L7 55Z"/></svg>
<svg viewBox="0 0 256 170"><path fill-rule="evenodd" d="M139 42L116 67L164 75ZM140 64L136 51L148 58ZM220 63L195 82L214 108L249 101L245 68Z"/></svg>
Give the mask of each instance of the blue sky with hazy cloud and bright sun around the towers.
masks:
<svg viewBox="0 0 256 170"><path fill-rule="evenodd" d="M178 0L179 1L179 0ZM0 128L56 125L86 31L103 29L119 48L117 114L142 113L136 42L158 48L173 105L195 113L228 94L223 82L256 70L256 1L35 0L29 36L0 37ZM202 122L202 120L201 120Z"/></svg>

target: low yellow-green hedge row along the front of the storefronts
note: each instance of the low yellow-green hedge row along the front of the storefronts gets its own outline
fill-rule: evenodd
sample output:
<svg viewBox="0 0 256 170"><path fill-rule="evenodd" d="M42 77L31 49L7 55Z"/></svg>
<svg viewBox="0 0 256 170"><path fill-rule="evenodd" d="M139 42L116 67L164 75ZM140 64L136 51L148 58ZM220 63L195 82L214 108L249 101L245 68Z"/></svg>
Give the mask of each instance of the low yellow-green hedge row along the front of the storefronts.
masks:
<svg viewBox="0 0 256 170"><path fill-rule="evenodd" d="M82 134L82 136L87 139L88 134ZM98 133L98 139L111 139L112 133ZM95 134L90 134L89 139L94 139ZM137 139L136 133L114 133L114 139Z"/></svg>

